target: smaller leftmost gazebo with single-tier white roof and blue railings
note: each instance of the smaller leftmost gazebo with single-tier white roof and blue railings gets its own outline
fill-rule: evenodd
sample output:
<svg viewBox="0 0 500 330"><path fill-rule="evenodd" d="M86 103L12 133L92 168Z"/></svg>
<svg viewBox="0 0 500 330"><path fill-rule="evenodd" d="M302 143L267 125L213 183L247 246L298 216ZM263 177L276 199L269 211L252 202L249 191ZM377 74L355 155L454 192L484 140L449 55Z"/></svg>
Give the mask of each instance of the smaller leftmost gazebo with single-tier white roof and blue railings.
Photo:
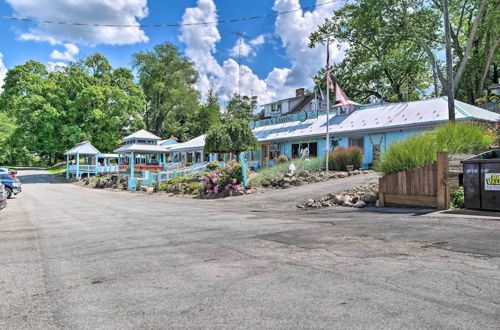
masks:
<svg viewBox="0 0 500 330"><path fill-rule="evenodd" d="M66 180L69 179L70 174L75 175L80 179L83 174L94 174L97 169L97 155L101 154L96 147L89 141L84 141L76 144L73 148L68 150L66 155ZM71 165L71 157L75 160L75 164ZM81 157L83 157L83 164L80 164Z"/></svg>

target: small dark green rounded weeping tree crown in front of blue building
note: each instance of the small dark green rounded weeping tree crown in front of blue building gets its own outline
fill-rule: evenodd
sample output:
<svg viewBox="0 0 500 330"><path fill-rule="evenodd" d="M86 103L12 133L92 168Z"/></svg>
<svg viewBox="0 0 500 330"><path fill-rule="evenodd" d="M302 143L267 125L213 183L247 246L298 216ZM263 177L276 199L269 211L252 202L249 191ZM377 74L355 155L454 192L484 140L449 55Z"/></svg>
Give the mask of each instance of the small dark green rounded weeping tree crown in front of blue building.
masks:
<svg viewBox="0 0 500 330"><path fill-rule="evenodd" d="M205 152L240 154L258 148L259 142L248 122L241 119L229 119L212 126L205 137Z"/></svg>

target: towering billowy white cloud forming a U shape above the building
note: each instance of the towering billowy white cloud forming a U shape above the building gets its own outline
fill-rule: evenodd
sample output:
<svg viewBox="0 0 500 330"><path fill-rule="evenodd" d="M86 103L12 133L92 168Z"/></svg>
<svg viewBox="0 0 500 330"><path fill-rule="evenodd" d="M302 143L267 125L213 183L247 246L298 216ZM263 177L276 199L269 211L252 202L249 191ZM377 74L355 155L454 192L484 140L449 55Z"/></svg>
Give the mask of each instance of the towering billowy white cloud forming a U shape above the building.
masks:
<svg viewBox="0 0 500 330"><path fill-rule="evenodd" d="M317 0L318 3L323 0ZM275 35L281 40L290 68L274 68L265 79L260 79L252 69L242 65L243 94L257 95L259 103L291 97L299 87L312 87L312 79L317 71L325 65L326 54L321 47L310 49L309 34L317 29L324 19L331 15L334 4L319 6L312 12L297 11L278 16L275 22ZM275 0L273 9L288 11L300 9L299 0ZM217 20L217 9L213 0L198 0L196 7L187 8L182 17L182 23L196 23ZM183 26L180 28L179 40L186 45L186 54L195 62L200 73L197 88L204 95L210 85L214 85L222 99L238 92L238 63L226 59L220 65L214 53L221 36L215 24L207 26ZM242 56L254 56L256 48L268 39L259 35L255 39L242 44ZM239 41L230 50L230 56L237 57ZM342 52L332 47L332 61L339 60Z"/></svg>

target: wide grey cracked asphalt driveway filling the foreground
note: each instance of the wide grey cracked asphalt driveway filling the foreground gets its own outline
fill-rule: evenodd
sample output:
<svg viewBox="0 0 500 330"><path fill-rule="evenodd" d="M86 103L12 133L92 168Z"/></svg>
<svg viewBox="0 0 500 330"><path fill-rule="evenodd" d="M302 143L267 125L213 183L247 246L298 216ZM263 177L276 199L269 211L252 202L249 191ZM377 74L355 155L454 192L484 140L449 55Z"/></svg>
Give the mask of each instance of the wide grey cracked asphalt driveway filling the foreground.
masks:
<svg viewBox="0 0 500 330"><path fill-rule="evenodd" d="M200 201L20 176L0 213L1 329L500 324L499 221L303 211L293 189Z"/></svg>

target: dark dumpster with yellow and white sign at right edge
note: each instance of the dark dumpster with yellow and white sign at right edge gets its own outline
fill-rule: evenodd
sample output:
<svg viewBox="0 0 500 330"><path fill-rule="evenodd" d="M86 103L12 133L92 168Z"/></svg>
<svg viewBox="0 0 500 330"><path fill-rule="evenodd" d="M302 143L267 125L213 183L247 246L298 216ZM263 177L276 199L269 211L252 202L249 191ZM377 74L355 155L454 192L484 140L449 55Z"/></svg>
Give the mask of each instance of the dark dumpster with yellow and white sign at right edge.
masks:
<svg viewBox="0 0 500 330"><path fill-rule="evenodd" d="M500 211L500 149L462 161L465 208Z"/></svg>

